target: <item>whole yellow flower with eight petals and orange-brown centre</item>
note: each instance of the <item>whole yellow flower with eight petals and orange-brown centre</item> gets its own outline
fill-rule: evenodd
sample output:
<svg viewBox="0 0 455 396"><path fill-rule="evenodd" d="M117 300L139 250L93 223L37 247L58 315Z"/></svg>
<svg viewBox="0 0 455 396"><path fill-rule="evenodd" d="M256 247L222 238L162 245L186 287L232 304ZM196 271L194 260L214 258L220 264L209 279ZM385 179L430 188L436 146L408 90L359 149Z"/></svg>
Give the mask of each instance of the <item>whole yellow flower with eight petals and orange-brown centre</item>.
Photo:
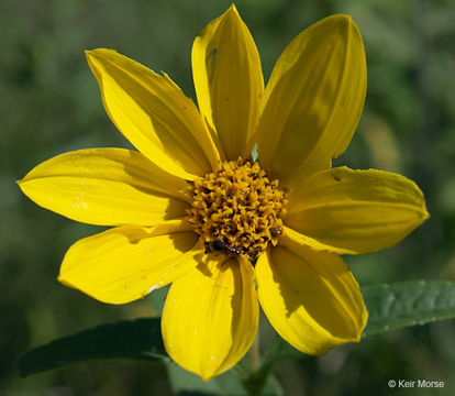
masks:
<svg viewBox="0 0 455 396"><path fill-rule="evenodd" d="M138 152L65 153L19 182L44 208L113 226L76 242L58 279L110 304L173 283L166 350L204 380L249 349L259 304L304 353L358 341L367 311L340 254L391 246L429 215L406 177L331 167L366 92L351 18L299 34L264 90L255 43L232 6L192 47L199 111L165 74L111 50L87 59L106 111Z"/></svg>

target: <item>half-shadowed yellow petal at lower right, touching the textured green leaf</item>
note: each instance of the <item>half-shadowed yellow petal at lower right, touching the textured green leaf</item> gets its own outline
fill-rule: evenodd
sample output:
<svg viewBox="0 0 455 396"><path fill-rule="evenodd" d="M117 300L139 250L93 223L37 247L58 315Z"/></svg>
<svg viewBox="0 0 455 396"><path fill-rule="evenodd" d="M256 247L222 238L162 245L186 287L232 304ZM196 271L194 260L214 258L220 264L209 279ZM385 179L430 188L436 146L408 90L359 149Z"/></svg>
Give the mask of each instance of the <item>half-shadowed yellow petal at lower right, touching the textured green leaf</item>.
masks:
<svg viewBox="0 0 455 396"><path fill-rule="evenodd" d="M292 248L273 248L256 264L259 302L271 326L312 355L358 342L368 312L347 265L336 254Z"/></svg>

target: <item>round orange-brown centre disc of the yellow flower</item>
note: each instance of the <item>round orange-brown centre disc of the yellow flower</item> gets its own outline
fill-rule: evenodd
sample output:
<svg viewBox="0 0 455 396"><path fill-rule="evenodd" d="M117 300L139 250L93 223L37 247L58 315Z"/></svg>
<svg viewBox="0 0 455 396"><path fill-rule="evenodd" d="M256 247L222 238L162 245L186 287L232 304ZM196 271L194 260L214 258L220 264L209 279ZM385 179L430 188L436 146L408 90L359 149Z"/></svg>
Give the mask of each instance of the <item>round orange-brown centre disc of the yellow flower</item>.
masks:
<svg viewBox="0 0 455 396"><path fill-rule="evenodd" d="M241 157L224 162L195 180L188 194L189 221L203 239L206 252L242 254L253 262L282 233L285 193L258 163Z"/></svg>

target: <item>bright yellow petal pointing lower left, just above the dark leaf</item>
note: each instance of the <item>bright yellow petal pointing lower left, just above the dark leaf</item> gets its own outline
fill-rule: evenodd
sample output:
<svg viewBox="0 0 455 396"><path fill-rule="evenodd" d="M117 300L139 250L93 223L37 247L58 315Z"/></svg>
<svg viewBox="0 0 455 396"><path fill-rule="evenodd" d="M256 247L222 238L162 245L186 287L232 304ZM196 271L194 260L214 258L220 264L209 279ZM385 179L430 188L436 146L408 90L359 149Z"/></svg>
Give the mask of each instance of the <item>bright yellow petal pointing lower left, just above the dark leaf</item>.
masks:
<svg viewBox="0 0 455 396"><path fill-rule="evenodd" d="M185 222L114 228L76 242L58 280L102 302L130 302L198 265L203 250Z"/></svg>

